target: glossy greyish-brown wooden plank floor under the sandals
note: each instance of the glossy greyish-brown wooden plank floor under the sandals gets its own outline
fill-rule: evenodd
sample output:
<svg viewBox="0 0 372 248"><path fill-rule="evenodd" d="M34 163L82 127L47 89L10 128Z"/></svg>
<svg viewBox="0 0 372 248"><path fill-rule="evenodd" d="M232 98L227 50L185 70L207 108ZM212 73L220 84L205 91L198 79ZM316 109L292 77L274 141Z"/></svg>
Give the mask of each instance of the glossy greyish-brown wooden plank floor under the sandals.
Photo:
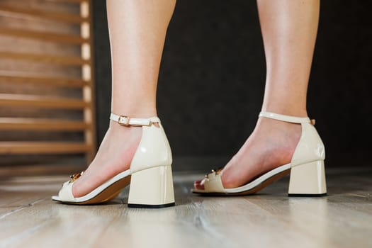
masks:
<svg viewBox="0 0 372 248"><path fill-rule="evenodd" d="M372 247L372 171L330 171L329 196L288 198L288 178L244 197L190 193L202 174L174 174L176 207L135 209L128 188L105 205L54 203L66 177L0 183L0 247Z"/></svg>

